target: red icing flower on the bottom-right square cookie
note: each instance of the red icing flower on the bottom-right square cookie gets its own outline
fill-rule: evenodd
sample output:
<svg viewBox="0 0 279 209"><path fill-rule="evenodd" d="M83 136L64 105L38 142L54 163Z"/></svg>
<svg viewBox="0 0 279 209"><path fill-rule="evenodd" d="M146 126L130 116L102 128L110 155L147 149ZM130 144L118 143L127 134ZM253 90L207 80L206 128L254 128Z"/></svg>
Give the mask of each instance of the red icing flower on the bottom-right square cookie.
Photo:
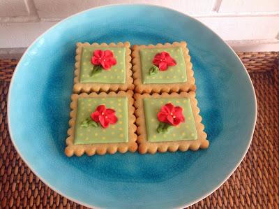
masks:
<svg viewBox="0 0 279 209"><path fill-rule="evenodd" d="M184 122L183 109L179 106L174 107L172 103L167 103L161 107L157 117L160 122L165 122L177 126L181 122Z"/></svg>

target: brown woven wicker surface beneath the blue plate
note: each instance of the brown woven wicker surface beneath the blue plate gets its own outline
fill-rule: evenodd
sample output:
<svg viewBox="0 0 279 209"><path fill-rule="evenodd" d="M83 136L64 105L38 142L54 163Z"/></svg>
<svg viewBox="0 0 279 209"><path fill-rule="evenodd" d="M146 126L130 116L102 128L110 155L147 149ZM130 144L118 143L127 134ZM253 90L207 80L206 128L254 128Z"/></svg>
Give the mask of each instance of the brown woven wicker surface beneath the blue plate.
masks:
<svg viewBox="0 0 279 209"><path fill-rule="evenodd" d="M190 208L278 208L279 52L239 53L257 94L258 115L248 154L216 192ZM6 99L15 59L0 60L1 208L85 208L52 191L24 164L7 127Z"/></svg>

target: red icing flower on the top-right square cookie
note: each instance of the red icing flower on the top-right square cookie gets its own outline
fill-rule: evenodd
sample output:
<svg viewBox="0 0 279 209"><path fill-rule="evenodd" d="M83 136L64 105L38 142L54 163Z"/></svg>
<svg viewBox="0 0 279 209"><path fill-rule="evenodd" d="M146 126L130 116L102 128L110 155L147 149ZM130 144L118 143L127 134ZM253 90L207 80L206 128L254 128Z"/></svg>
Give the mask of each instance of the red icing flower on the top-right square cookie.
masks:
<svg viewBox="0 0 279 209"><path fill-rule="evenodd" d="M160 71L167 71L168 66L175 66L176 62L167 52L160 52L153 58L153 64L159 67Z"/></svg>

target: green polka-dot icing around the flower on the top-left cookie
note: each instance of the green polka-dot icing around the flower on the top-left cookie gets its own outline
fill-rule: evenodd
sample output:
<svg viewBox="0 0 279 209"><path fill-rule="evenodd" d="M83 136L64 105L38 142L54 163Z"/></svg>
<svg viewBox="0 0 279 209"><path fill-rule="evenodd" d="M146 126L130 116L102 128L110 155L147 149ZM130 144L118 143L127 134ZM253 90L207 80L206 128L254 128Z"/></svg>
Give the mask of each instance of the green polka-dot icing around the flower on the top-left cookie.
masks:
<svg viewBox="0 0 279 209"><path fill-rule="evenodd" d="M95 50L111 50L116 59L116 64L110 70L103 70L101 73L90 75L93 64L91 57ZM82 57L80 62L80 82L98 82L98 83L125 83L126 82L126 48L122 47L92 47L82 48Z"/></svg>

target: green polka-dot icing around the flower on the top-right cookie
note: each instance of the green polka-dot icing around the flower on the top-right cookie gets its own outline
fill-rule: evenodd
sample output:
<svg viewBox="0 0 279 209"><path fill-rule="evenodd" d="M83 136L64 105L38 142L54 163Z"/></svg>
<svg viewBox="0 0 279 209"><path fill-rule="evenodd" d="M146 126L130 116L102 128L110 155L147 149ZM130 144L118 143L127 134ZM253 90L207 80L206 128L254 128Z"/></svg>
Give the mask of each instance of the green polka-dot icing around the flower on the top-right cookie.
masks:
<svg viewBox="0 0 279 209"><path fill-rule="evenodd" d="M168 52L176 61L175 66L169 66L167 71L159 71L155 75L149 75L149 69L153 66L153 57L159 52ZM154 48L140 50L142 65L142 83L176 83L186 82L186 66L181 47L176 48Z"/></svg>

